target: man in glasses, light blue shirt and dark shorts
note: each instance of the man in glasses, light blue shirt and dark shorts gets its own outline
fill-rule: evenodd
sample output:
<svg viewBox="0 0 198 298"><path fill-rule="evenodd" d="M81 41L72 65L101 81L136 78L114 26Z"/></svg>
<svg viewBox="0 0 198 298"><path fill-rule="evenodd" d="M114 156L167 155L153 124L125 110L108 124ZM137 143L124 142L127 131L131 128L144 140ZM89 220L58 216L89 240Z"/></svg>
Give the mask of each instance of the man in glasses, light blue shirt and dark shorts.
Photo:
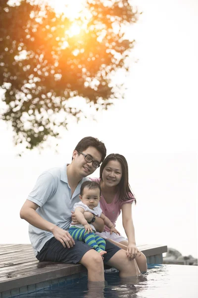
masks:
<svg viewBox="0 0 198 298"><path fill-rule="evenodd" d="M29 225L30 240L40 261L78 263L88 270L89 281L104 281L103 260L100 254L81 241L74 241L67 229L71 211L79 202L81 184L89 180L106 156L102 142L93 137L82 139L72 155L72 162L62 168L52 168L42 173L20 211L20 217ZM84 216L101 232L103 220L85 212ZM126 252L106 241L104 263L120 271L121 277L136 276L134 260Z"/></svg>

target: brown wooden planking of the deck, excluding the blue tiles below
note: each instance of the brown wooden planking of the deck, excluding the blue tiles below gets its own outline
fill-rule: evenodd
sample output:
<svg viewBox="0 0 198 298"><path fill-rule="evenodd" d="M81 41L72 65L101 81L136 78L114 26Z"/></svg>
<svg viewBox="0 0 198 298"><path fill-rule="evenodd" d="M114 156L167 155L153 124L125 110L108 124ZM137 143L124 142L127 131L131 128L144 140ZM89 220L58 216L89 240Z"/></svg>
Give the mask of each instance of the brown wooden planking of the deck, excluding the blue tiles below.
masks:
<svg viewBox="0 0 198 298"><path fill-rule="evenodd" d="M147 258L167 251L167 246L138 245ZM154 257L155 258L155 257ZM157 260L157 259L156 259ZM31 244L0 245L0 292L85 271L81 265L39 262Z"/></svg>

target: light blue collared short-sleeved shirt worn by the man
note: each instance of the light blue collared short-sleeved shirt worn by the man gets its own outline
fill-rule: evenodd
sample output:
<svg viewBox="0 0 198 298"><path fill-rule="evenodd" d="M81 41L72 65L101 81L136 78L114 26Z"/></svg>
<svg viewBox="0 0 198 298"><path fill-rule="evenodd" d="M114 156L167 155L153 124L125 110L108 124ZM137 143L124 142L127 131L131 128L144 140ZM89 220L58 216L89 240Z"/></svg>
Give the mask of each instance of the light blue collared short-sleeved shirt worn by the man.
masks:
<svg viewBox="0 0 198 298"><path fill-rule="evenodd" d="M28 200L36 203L36 212L46 221L67 230L71 223L71 211L79 202L81 184L90 180L83 178L77 185L72 197L67 179L67 165L55 167L43 172L28 196ZM35 255L53 234L29 224L29 236Z"/></svg>

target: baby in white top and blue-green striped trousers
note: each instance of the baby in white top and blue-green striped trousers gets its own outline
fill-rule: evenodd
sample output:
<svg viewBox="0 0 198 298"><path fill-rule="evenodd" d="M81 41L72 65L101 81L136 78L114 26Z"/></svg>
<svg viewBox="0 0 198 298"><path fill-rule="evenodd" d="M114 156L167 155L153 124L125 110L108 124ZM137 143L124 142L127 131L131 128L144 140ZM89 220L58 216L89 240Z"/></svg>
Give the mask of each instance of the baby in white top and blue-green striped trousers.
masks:
<svg viewBox="0 0 198 298"><path fill-rule="evenodd" d="M91 224L95 222L95 216L98 216L104 221L104 224L110 228L111 234L114 232L120 235L120 233L116 230L111 221L102 213L101 208L98 206L100 196L101 189L97 182L85 181L82 183L79 195L81 201L74 204L74 214L76 216L76 220L80 224L70 224L69 233L75 240L84 241L98 251L101 256L103 256L106 253L106 243L103 238L95 234L96 229L94 225ZM94 215L92 221L89 223L83 215L85 211L89 211Z"/></svg>

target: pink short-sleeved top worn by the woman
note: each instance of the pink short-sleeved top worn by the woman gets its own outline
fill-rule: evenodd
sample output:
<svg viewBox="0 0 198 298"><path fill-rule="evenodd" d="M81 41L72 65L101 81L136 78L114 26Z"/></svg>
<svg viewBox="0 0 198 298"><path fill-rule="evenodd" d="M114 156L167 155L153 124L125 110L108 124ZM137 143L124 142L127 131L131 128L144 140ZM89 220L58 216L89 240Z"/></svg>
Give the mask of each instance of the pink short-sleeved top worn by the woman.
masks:
<svg viewBox="0 0 198 298"><path fill-rule="evenodd" d="M92 181L96 181L100 183L100 178L90 178ZM123 204L131 203L135 200L131 193L129 193L129 196L132 198L131 200L120 202L118 201L118 193L114 196L113 201L110 204L107 204L102 193L101 193L101 199L99 201L100 208L102 210L102 213L111 221L112 224L115 225L118 216L120 215L121 208ZM104 230L109 232L109 228L105 225Z"/></svg>

